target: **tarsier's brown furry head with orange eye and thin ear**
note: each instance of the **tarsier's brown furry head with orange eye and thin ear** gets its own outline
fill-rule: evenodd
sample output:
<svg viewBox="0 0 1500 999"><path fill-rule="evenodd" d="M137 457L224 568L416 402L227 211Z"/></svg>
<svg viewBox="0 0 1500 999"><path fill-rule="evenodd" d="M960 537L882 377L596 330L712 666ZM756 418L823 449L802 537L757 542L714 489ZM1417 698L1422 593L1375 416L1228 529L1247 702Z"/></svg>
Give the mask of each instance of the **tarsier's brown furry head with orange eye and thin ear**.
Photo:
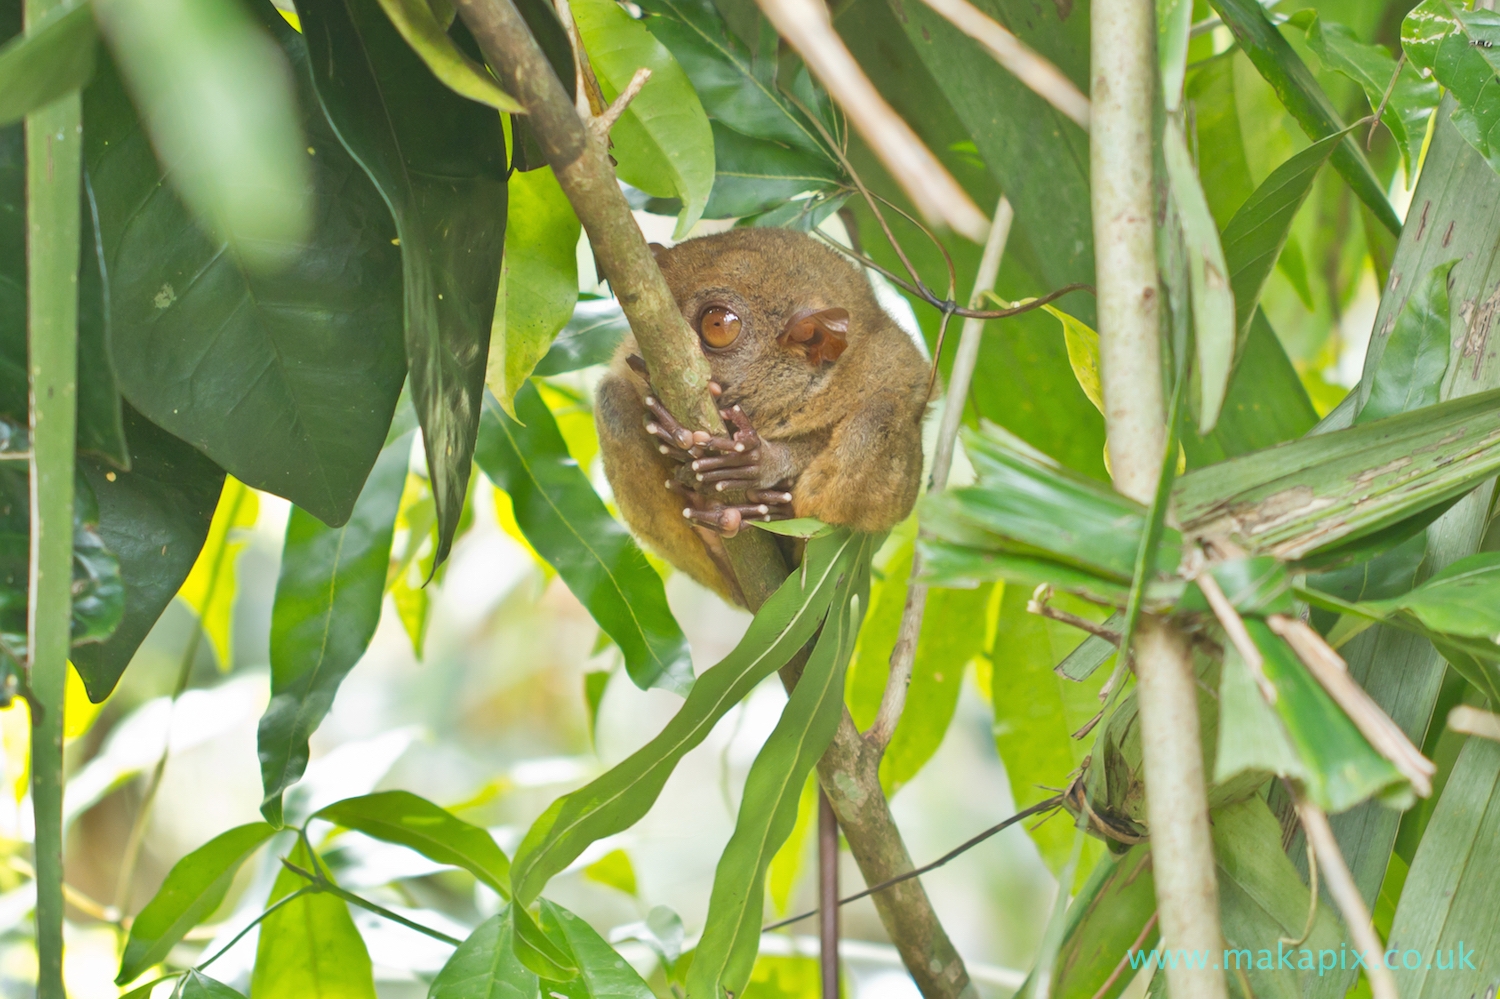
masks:
<svg viewBox="0 0 1500 999"><path fill-rule="evenodd" d="M652 249L735 396L813 392L846 350L890 322L860 268L804 232L744 228Z"/></svg>

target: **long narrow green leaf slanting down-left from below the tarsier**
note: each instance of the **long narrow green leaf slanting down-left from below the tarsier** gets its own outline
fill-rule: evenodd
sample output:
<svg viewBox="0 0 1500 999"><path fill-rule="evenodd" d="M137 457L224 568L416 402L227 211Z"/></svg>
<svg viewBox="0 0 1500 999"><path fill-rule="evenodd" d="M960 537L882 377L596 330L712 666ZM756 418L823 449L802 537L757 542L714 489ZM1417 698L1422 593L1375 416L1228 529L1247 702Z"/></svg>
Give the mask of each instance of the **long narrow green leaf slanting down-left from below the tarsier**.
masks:
<svg viewBox="0 0 1500 999"><path fill-rule="evenodd" d="M526 832L510 867L526 904L590 843L630 828L662 794L676 762L752 688L786 664L822 624L860 542L848 530L807 543L802 568L762 604L740 645L693 684L660 735L590 784L555 801Z"/></svg>

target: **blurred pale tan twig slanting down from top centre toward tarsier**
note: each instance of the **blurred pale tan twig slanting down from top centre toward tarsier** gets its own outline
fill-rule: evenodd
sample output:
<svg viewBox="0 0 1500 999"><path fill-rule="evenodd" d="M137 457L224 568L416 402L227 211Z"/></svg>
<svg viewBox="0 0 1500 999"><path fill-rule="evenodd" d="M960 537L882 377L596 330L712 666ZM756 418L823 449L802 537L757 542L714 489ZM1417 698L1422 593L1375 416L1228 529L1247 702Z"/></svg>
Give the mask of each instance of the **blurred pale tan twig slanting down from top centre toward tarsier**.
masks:
<svg viewBox="0 0 1500 999"><path fill-rule="evenodd" d="M988 219L864 75L819 0L760 0L760 9L828 88L912 204L975 243Z"/></svg>

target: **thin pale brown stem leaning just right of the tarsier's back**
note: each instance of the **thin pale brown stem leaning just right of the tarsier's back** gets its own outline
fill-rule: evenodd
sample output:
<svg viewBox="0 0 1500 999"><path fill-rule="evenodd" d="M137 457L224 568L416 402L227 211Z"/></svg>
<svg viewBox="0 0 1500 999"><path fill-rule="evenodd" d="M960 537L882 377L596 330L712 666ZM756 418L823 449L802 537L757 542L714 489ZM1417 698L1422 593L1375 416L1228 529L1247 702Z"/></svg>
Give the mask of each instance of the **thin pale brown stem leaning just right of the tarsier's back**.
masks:
<svg viewBox="0 0 1500 999"><path fill-rule="evenodd" d="M974 291L969 296L972 308L978 308L984 300L984 292L994 288L994 278L1000 273L1000 258L1005 255L1005 240L1010 238L1014 219L1016 212L1011 208L1011 202L1005 195L1000 195L999 204L994 206L994 222L984 240L980 268L974 278ZM948 486L952 450L958 441L958 424L963 422L963 406L969 399L974 369L980 363L980 340L982 338L984 320L963 321L963 333L958 336L958 350L954 352L952 370L948 378L948 398L944 399L942 423L938 428L930 492L939 492ZM934 357L933 368L936 369L936 366L938 358ZM912 558L906 606L902 609L902 627L897 632L896 648L891 650L891 672L886 676L874 722L864 734L866 741L882 753L891 744L896 723L902 720L902 712L906 710L906 688L912 682L912 666L916 662L916 639L921 636L922 614L927 610L927 584L916 582L921 570L921 556L916 555Z"/></svg>

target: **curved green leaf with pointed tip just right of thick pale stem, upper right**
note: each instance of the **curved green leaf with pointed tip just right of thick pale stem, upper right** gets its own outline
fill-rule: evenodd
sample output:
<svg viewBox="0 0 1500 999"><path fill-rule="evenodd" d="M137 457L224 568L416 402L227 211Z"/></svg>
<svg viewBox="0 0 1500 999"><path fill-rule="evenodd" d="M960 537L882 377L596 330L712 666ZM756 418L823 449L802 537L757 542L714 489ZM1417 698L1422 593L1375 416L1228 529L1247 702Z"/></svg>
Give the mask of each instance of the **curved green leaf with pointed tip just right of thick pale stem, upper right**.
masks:
<svg viewBox="0 0 1500 999"><path fill-rule="evenodd" d="M1250 333L1260 292L1287 246L1292 220L1312 190L1317 171L1341 141L1340 136L1318 140L1276 166L1224 226L1234 326L1242 334Z"/></svg>

